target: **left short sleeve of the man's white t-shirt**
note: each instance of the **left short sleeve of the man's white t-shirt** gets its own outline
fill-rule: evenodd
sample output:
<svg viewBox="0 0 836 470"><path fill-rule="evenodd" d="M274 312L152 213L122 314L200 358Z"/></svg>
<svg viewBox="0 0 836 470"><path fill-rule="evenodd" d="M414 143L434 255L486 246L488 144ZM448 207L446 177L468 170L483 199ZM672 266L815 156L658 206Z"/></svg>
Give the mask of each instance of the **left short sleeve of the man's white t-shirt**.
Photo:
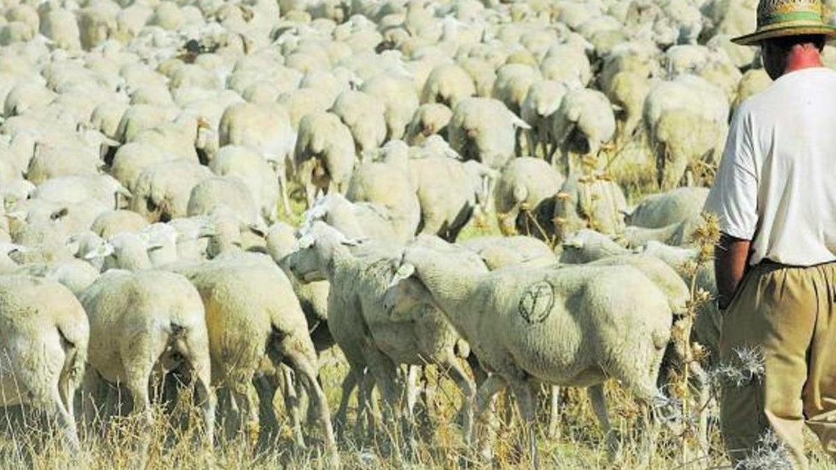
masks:
<svg viewBox="0 0 836 470"><path fill-rule="evenodd" d="M752 118L742 106L732 119L726 150L706 200L706 212L719 218L720 230L752 240L757 230L757 172Z"/></svg>

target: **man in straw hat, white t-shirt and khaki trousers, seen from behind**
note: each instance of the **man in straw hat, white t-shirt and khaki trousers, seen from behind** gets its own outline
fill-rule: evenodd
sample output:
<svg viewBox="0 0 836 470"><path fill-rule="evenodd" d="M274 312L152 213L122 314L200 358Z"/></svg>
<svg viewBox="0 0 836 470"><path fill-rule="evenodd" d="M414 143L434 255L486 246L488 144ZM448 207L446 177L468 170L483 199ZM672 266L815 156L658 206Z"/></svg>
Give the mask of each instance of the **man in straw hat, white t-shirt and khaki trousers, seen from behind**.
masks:
<svg viewBox="0 0 836 470"><path fill-rule="evenodd" d="M808 468L805 425L836 455L836 72L820 56L836 28L826 16L820 0L761 0L757 31L733 39L759 45L774 80L732 118L706 202L722 232L721 363L762 367L723 389L735 467L772 451Z"/></svg>

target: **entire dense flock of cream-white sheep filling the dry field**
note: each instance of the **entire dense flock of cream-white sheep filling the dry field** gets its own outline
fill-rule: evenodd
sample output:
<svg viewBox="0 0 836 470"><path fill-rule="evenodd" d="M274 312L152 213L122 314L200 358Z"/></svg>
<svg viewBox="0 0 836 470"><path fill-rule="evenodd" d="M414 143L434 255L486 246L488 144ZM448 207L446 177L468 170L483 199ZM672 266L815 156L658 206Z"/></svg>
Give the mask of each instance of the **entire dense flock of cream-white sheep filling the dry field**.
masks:
<svg viewBox="0 0 836 470"><path fill-rule="evenodd" d="M729 40L756 3L5 0L0 405L77 446L77 391L119 384L150 421L177 374L211 444L281 389L336 462L355 390L356 432L375 389L399 426L437 366L466 442L506 388L534 421L535 384L588 387L613 438L604 381L668 402L705 186L769 84ZM660 192L628 207L636 169ZM502 237L456 244L490 220ZM716 320L692 340L716 348Z"/></svg>

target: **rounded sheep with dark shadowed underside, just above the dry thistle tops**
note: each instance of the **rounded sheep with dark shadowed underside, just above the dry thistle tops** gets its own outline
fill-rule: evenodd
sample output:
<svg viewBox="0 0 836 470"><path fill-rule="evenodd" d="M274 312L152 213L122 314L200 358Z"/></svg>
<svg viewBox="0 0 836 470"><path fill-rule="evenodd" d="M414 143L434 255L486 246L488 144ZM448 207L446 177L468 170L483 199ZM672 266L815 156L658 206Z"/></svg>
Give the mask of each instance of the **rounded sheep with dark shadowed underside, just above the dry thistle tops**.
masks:
<svg viewBox="0 0 836 470"><path fill-rule="evenodd" d="M552 135L553 151L561 151L566 174L572 171L573 156L597 155L615 136L615 115L606 95L594 89L569 90L553 115Z"/></svg>

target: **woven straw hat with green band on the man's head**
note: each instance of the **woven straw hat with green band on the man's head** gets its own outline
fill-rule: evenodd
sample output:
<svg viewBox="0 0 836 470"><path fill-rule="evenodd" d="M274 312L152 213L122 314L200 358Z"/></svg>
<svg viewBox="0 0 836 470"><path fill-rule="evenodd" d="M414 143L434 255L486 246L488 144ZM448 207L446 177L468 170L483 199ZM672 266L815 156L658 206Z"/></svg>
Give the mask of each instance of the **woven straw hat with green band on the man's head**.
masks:
<svg viewBox="0 0 836 470"><path fill-rule="evenodd" d="M836 27L825 21L824 11L821 0L761 0L757 5L757 30L732 42L748 46L783 36L836 36Z"/></svg>

